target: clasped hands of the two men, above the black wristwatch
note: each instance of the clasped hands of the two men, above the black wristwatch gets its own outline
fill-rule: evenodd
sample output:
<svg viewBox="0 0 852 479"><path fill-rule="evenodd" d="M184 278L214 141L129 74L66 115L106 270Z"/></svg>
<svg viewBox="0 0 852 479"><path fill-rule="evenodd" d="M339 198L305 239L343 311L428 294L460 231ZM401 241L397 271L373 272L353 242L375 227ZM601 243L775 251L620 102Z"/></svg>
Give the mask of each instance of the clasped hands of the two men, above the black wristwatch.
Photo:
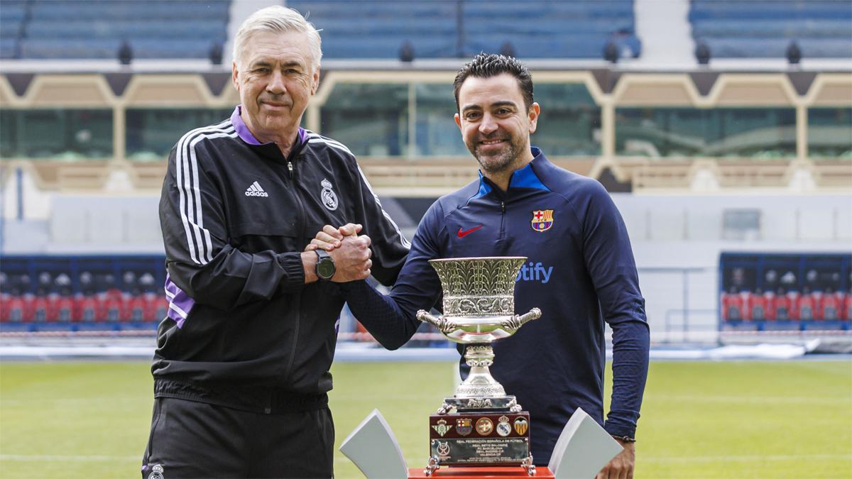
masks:
<svg viewBox="0 0 852 479"><path fill-rule="evenodd" d="M347 223L340 228L325 225L305 246L305 251L328 251L336 269L331 277L332 281L345 283L366 280L371 273L372 251L370 237L366 234L359 235L362 228L360 224L354 223Z"/></svg>

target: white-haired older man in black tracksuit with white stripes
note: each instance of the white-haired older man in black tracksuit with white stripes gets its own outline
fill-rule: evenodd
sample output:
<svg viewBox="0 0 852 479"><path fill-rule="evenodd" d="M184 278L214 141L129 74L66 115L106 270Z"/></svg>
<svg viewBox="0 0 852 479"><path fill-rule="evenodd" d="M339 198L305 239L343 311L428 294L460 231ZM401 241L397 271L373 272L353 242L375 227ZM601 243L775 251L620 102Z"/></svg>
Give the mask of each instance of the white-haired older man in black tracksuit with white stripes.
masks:
<svg viewBox="0 0 852 479"><path fill-rule="evenodd" d="M348 148L299 126L321 56L295 10L252 14L234 41L240 105L170 153L170 308L143 478L333 476L338 284L392 284L409 243ZM322 225L350 222L363 231L341 247L303 251Z"/></svg>

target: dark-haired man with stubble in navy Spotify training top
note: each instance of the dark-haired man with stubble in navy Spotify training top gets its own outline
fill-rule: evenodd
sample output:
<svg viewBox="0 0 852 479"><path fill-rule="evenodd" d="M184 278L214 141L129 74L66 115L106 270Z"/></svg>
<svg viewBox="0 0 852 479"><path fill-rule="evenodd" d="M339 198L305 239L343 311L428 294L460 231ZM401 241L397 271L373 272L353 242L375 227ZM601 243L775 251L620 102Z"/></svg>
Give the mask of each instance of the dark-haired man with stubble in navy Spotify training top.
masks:
<svg viewBox="0 0 852 479"><path fill-rule="evenodd" d="M454 87L456 124L480 178L429 208L388 296L364 281L341 285L349 308L385 348L399 348L417 330L417 310L440 298L430 259L527 257L515 309L538 307L542 316L493 343L491 372L530 413L533 461L548 464L562 428L582 407L625 447L598 477L632 477L649 333L625 223L599 182L562 170L530 146L540 107L526 66L477 55ZM326 226L309 247L333 249L356 229ZM606 422L604 321L613 329ZM464 361L460 370L466 377Z"/></svg>

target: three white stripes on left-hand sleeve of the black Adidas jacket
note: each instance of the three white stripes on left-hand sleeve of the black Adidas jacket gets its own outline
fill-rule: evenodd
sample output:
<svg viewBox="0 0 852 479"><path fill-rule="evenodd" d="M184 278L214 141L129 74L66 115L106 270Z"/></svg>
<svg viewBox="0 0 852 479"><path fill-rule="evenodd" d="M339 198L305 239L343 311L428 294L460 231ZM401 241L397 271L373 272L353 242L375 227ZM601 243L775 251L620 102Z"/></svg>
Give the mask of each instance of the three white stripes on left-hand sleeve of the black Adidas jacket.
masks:
<svg viewBox="0 0 852 479"><path fill-rule="evenodd" d="M194 263L206 264L212 259L210 231L204 228L201 213L198 160L195 145L204 138L236 136L230 121L212 127L192 130L178 141L176 182L180 193L181 222L187 234L187 249ZM206 248L204 247L206 246Z"/></svg>

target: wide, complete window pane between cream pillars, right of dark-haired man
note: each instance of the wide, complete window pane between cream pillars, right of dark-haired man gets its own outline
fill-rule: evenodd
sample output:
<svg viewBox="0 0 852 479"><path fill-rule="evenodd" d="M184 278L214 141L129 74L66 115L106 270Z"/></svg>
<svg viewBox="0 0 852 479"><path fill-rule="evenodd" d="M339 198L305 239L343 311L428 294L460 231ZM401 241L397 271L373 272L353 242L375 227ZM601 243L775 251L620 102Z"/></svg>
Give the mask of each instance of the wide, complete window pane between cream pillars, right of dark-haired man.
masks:
<svg viewBox="0 0 852 479"><path fill-rule="evenodd" d="M618 108L616 152L624 156L791 158L792 108Z"/></svg>

